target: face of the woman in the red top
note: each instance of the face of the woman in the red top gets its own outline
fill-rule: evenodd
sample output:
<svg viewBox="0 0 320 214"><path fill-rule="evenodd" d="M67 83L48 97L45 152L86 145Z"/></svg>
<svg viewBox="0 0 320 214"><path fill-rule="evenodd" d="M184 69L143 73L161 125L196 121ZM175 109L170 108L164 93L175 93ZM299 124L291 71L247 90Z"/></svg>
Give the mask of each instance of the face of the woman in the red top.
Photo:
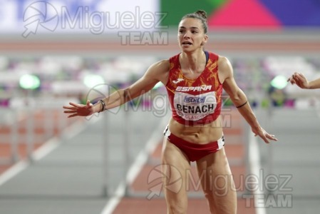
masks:
<svg viewBox="0 0 320 214"><path fill-rule="evenodd" d="M179 24L177 40L182 51L195 51L202 49L207 42L207 34L202 27L199 19L182 19Z"/></svg>

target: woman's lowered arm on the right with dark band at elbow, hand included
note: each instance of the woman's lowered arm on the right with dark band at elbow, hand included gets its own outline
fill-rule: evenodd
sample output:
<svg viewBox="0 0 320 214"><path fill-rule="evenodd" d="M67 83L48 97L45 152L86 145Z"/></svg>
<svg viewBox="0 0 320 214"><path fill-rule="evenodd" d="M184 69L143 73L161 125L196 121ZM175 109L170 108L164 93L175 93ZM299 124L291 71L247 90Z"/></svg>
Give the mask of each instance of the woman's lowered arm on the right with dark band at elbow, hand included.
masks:
<svg viewBox="0 0 320 214"><path fill-rule="evenodd" d="M259 125L259 122L249 105L247 96L234 81L233 70L229 60L225 57L220 57L218 67L219 74L221 73L222 76L224 76L222 84L224 91L228 93L234 103L234 106L237 107L239 113L241 113L247 123L249 123L255 136L260 136L265 143L269 143L269 140L277 141L277 138L275 138L274 135L267 133L267 131L264 131L264 129Z"/></svg>

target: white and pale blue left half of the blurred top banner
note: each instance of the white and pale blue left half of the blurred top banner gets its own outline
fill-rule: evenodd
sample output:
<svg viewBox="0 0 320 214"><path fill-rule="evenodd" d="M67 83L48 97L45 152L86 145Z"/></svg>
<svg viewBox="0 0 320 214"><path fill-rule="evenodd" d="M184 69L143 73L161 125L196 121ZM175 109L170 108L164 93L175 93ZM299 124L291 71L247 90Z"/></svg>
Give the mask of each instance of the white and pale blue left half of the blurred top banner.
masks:
<svg viewBox="0 0 320 214"><path fill-rule="evenodd" d="M0 34L84 33L156 29L158 0L0 0Z"/></svg>

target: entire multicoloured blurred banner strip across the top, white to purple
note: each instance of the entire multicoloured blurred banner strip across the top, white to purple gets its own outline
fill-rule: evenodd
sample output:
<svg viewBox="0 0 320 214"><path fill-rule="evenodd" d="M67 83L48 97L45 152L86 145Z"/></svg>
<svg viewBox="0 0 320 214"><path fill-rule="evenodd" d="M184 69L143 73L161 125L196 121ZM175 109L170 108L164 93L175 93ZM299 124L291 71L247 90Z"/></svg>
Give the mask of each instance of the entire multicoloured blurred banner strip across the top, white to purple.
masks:
<svg viewBox="0 0 320 214"><path fill-rule="evenodd" d="M0 0L0 34L123 34L177 26L197 9L210 29L320 27L319 0ZM289 7L290 6L290 7Z"/></svg>

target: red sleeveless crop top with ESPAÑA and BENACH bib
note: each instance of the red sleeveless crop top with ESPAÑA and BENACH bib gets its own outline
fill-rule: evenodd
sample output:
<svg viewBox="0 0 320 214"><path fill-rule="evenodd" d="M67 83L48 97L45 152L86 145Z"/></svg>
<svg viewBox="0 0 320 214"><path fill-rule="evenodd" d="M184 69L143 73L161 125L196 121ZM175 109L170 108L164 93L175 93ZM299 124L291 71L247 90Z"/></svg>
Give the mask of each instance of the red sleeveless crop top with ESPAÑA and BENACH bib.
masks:
<svg viewBox="0 0 320 214"><path fill-rule="evenodd" d="M181 70L179 55L170 58L167 94L172 118L186 126L211 123L220 116L222 84L218 78L219 56L205 52L205 70L196 79L186 78Z"/></svg>

